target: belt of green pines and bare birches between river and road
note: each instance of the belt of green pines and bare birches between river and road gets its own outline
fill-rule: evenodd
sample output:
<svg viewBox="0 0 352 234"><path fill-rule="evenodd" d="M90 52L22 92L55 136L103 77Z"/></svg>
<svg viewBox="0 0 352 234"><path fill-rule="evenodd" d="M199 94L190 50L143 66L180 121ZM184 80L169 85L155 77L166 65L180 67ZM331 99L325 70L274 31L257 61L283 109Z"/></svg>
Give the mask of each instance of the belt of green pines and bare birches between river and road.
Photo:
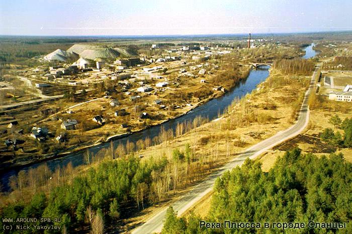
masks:
<svg viewBox="0 0 352 234"><path fill-rule="evenodd" d="M95 233L119 228L131 208L137 212L160 204L209 174L217 160L217 152L212 152L196 157L190 144L186 144L184 149L175 148L168 157L141 161L133 154L111 160L113 155L105 151L95 155L100 157L96 159L99 163L80 173L71 164L54 173L47 166L21 171L11 180L14 191L5 202L3 199L0 224L4 224L3 217L58 217L60 222L47 224L67 230L100 230Z"/></svg>

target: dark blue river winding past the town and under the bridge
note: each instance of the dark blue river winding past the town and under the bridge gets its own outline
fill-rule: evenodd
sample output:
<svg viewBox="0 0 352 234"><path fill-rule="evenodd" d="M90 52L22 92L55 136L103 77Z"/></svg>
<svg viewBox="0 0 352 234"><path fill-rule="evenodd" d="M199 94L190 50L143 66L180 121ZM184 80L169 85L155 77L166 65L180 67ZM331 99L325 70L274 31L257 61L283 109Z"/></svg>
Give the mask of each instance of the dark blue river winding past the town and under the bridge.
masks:
<svg viewBox="0 0 352 234"><path fill-rule="evenodd" d="M316 55L316 52L313 50L313 46L314 44L312 43L310 46L303 49L306 51L306 55L303 56L303 58L308 59ZM251 93L252 90L254 90L259 83L265 81L269 76L268 69L269 67L267 67L267 69L252 69L246 79L241 80L234 88L232 88L222 97L210 100L209 102L193 109L191 112L180 118L173 119L163 124L159 124L148 129L142 130L140 132L135 132L127 137L114 140L114 147L117 147L118 144L125 144L127 140L129 142L136 143L139 139L145 139L146 137L152 139L153 137L159 135L161 127L163 127L164 130L173 129L174 131L179 123L183 123L185 121L193 121L198 116L208 118L210 121L216 119L219 113L222 114L226 110L226 108L232 103L233 100L235 100L236 98L241 98L248 93ZM101 145L93 146L89 149L89 152L91 155L93 155L104 147L110 147L110 143L103 143ZM58 166L66 166L69 162L72 163L73 167L85 164L86 160L84 159L84 152L79 151L76 153L68 154L67 156L61 158L48 160L46 162L39 162L3 171L3 174L1 175L1 183L3 185L4 190L9 190L9 178L12 175L17 175L20 170L36 168L43 163L47 163L48 167L51 170L54 170Z"/></svg>

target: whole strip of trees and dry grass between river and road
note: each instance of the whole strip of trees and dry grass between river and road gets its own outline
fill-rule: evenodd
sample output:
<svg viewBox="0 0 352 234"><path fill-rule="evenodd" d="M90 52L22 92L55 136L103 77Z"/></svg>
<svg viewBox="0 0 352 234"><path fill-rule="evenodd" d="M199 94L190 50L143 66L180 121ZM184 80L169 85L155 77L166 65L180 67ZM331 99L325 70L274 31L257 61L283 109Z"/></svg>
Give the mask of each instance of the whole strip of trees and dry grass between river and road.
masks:
<svg viewBox="0 0 352 234"><path fill-rule="evenodd" d="M273 73L273 77L268 78L254 92L253 97L235 100L225 114L225 121L209 123L211 129L229 133L252 124L264 126L276 122L278 116L274 118L270 113L279 109L281 102L293 105L293 100L298 100L299 93L307 86L308 79L290 79L280 73ZM265 99L266 101L254 106L250 104L259 98L256 95L266 96L268 92L273 94L283 87L295 87L294 89L301 92L292 93L284 88L285 91L280 92L282 96L278 101ZM286 93L290 95L287 96ZM252 101L249 102L249 99ZM290 108L291 111L294 110L294 107ZM295 115L289 118L293 121ZM91 165L87 169L73 168L69 164L55 171L50 171L45 165L28 172L22 171L11 179L13 191L2 197L1 216L61 217L62 228L77 231L116 228L123 218L131 215L126 212L130 207L143 210L152 204L164 202L180 189L199 182L232 153L248 145L234 137L234 142L225 143L227 147L224 153L221 151L220 138L208 134L207 139L196 137L199 142L192 147L189 143L184 143L183 148L173 147L169 154L157 155L157 151L150 148L152 144L165 147L174 137L178 140L187 133L198 134L197 127L203 128L207 122L207 119L196 118L193 122L180 124L175 133L161 131L155 139L147 138L136 144L128 142L113 151L102 150L89 162ZM215 141L217 146L214 146ZM153 157L141 160L133 155L136 150L148 148L150 152L154 152ZM203 150L205 148L206 151ZM120 158L111 160L114 156Z"/></svg>

